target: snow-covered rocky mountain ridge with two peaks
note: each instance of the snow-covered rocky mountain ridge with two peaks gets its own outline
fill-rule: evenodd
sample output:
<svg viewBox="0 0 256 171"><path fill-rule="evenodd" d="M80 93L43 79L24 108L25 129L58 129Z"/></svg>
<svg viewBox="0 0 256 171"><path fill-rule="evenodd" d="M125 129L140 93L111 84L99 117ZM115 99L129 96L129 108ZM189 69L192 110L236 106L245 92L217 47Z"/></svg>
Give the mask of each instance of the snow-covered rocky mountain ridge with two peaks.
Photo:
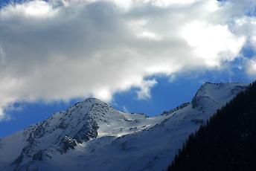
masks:
<svg viewBox="0 0 256 171"><path fill-rule="evenodd" d="M163 170L185 139L246 85L205 83L156 117L89 98L0 139L0 170Z"/></svg>

